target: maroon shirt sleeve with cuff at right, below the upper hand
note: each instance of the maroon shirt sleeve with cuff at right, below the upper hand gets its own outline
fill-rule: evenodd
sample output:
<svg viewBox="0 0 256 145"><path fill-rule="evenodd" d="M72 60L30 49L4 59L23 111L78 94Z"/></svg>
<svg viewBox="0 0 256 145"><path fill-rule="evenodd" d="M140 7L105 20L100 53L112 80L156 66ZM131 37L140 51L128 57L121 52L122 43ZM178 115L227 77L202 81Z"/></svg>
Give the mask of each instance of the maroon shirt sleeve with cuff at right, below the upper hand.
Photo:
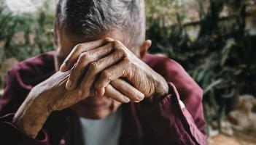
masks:
<svg viewBox="0 0 256 145"><path fill-rule="evenodd" d="M181 107L179 94L173 83L161 101L152 105L139 104L139 114L154 131L159 144L201 144L206 136L198 129L186 107Z"/></svg>

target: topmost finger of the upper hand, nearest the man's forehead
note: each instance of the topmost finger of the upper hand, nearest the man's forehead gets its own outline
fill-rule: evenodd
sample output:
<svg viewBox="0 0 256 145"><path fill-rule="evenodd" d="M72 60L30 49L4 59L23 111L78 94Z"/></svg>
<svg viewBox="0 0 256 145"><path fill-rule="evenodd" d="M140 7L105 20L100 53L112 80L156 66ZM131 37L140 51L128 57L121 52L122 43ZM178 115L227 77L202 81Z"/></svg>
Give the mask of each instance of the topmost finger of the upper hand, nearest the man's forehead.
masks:
<svg viewBox="0 0 256 145"><path fill-rule="evenodd" d="M87 43L79 43L77 46L74 46L74 49L70 52L68 57L64 60L63 64L61 65L60 70L62 72L65 72L71 68L72 65L74 65L74 62L77 61L79 55L82 52L90 51L92 49L96 49L100 46L104 46L106 43L109 43L110 41L113 41L112 38L104 38L100 39L98 41L92 41Z"/></svg>

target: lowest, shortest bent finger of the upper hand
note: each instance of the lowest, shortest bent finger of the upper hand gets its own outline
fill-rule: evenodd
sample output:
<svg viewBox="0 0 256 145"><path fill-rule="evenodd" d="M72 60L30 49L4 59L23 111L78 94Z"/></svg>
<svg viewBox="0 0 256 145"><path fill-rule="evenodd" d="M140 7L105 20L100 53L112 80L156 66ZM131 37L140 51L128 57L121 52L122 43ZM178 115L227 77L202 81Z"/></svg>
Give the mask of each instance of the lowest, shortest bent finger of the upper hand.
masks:
<svg viewBox="0 0 256 145"><path fill-rule="evenodd" d="M129 73L128 64L125 61L119 62L117 65L107 68L102 71L96 80L95 88L98 94L103 94L104 88L112 81L125 76Z"/></svg>

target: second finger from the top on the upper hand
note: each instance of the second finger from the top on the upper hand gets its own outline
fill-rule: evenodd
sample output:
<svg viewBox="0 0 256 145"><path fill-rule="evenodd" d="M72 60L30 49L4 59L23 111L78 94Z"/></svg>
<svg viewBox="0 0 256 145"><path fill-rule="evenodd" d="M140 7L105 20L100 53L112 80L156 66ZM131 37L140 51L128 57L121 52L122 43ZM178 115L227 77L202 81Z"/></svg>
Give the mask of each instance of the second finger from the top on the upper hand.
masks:
<svg viewBox="0 0 256 145"><path fill-rule="evenodd" d="M82 54L80 54L76 65L71 70L69 80L66 83L66 88L67 89L76 88L77 84L79 83L79 79L82 78L82 75L85 74L85 71L87 70L88 65L91 62L94 62L98 59L105 57L111 51L112 51L112 45L111 45L111 43L109 43L105 46L101 46L98 49L93 49L93 50L83 52Z"/></svg>

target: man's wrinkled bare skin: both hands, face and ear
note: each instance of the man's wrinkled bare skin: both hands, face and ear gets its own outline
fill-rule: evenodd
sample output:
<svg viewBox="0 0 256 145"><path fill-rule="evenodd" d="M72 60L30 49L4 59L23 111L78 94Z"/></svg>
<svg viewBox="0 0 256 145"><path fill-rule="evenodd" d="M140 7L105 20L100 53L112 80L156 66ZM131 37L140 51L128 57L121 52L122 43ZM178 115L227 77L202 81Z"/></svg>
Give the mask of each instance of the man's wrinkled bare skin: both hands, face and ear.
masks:
<svg viewBox="0 0 256 145"><path fill-rule="evenodd" d="M131 52L115 35L85 43L59 37L56 58L66 58L61 72L35 86L13 119L31 138L55 110L71 107L81 117L101 119L122 103L158 100L167 94L166 80L139 59L151 41ZM61 62L57 59L55 65Z"/></svg>

